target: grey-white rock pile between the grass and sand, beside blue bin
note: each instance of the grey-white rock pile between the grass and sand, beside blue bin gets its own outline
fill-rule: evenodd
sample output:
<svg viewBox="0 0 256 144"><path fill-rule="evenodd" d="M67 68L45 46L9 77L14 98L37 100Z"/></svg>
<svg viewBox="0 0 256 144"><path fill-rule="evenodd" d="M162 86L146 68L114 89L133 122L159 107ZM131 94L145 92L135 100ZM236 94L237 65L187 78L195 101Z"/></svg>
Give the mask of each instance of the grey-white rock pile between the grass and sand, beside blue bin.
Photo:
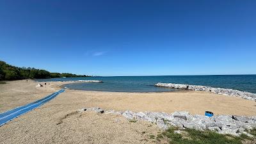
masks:
<svg viewBox="0 0 256 144"><path fill-rule="evenodd" d="M83 108L79 111L96 111L98 113L112 113L115 115L122 115L129 120L147 120L156 124L161 129L168 129L169 125L173 127L180 127L181 129L197 129L200 131L211 130L220 134L232 134L239 136L246 134L253 137L252 134L245 132L245 130L256 127L256 116L236 116L236 115L218 115L218 116L202 116L190 115L187 111L175 111L174 113L152 113L132 111L104 111L100 108Z"/></svg>

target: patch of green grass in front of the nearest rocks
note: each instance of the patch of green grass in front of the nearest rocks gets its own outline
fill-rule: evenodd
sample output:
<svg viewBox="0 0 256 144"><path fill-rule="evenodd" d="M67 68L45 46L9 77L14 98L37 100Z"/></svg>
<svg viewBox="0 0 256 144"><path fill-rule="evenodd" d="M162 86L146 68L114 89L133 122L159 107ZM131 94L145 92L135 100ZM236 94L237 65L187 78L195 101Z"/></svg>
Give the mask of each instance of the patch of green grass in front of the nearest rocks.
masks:
<svg viewBox="0 0 256 144"><path fill-rule="evenodd" d="M175 127L170 127L168 130L157 134L157 141L166 141L171 144L242 144L243 140L253 140L241 134L240 137L228 134L218 134L214 131L197 131L195 129L184 129L182 134L175 133ZM256 132L256 129L251 132ZM255 134L255 133L254 133Z"/></svg>

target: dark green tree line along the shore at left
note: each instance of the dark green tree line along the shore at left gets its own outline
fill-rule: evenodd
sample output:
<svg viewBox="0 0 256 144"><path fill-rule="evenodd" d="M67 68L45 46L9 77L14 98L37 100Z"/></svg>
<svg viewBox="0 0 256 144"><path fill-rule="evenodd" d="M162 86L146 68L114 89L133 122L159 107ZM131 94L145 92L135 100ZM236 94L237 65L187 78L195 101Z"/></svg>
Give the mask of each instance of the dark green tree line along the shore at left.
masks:
<svg viewBox="0 0 256 144"><path fill-rule="evenodd" d="M13 81L19 79L46 79L56 77L89 77L86 75L76 75L69 73L48 72L31 67L15 67L0 61L0 81Z"/></svg>

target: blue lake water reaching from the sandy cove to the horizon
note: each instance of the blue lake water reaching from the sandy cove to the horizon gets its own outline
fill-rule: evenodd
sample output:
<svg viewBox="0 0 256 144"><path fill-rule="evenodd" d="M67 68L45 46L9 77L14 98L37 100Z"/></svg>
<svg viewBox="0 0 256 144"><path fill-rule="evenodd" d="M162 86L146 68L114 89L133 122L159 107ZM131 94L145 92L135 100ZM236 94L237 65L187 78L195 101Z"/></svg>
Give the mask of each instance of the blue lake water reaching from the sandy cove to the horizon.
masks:
<svg viewBox="0 0 256 144"><path fill-rule="evenodd" d="M173 91L173 89L155 87L154 84L180 83L232 88L256 93L256 75L67 77L38 79L38 81L71 81L79 79L100 80L104 83L73 83L65 84L65 86L74 90L107 92L168 92Z"/></svg>

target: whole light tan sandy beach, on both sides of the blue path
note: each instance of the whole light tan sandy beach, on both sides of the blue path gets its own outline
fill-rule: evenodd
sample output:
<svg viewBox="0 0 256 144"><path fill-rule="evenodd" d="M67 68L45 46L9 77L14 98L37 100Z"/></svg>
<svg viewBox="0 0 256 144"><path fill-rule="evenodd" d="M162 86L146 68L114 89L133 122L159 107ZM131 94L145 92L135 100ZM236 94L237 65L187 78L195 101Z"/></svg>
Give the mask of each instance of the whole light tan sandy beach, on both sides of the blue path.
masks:
<svg viewBox="0 0 256 144"><path fill-rule="evenodd" d="M61 82L35 88L34 81L0 84L0 108L22 106L60 90ZM122 116L75 111L100 107L125 111L172 113L186 110L227 115L256 115L256 102L205 92L116 93L66 90L40 108L0 127L0 143L152 143L159 129L148 122L128 122ZM65 118L65 115L72 114ZM62 120L63 119L63 120ZM60 124L61 123L61 124ZM145 134L144 134L145 131Z"/></svg>

